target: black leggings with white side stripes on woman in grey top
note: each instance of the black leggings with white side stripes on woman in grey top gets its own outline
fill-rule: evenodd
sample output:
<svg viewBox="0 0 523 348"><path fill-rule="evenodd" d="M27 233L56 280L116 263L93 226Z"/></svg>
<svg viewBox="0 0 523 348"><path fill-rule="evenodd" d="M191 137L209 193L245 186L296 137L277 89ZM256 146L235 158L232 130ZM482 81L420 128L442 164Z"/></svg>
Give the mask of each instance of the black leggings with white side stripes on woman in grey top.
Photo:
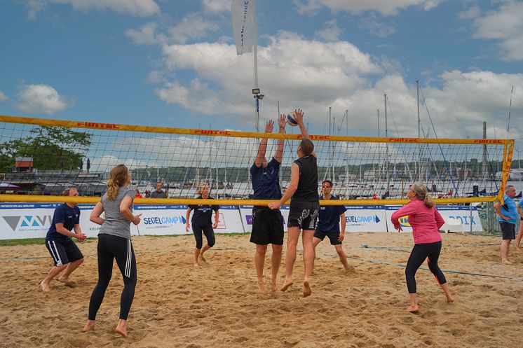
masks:
<svg viewBox="0 0 523 348"><path fill-rule="evenodd" d="M98 235L98 283L89 301L89 320L96 319L96 312L102 305L105 290L113 273L113 261L120 268L123 277L123 291L120 298L120 319L127 320L130 306L135 298L136 259L130 239L115 235Z"/></svg>

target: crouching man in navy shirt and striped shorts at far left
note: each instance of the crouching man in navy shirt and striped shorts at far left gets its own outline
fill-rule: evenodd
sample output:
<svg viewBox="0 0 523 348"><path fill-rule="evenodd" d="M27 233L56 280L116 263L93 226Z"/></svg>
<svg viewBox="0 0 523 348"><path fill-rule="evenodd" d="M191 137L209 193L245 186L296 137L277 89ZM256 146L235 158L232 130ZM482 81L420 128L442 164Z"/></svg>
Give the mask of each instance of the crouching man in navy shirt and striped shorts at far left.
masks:
<svg viewBox="0 0 523 348"><path fill-rule="evenodd" d="M62 195L74 197L78 195L78 190L67 188ZM42 291L50 291L50 282L62 270L65 272L58 278L58 281L62 281L67 286L74 286L74 283L69 281L69 276L83 263L83 255L71 239L73 237L83 242L87 237L80 228L80 209L76 207L76 204L67 202L55 209L53 221L46 236L46 247L55 265L50 269L46 279L41 281Z"/></svg>

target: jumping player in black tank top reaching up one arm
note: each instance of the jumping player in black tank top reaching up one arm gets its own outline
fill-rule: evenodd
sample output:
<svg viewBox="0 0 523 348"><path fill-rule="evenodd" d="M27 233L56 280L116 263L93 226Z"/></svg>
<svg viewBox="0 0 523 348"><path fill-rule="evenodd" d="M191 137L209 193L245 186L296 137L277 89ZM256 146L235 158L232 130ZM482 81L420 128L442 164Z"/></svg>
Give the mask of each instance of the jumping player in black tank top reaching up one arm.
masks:
<svg viewBox="0 0 523 348"><path fill-rule="evenodd" d="M314 144L308 137L308 132L304 125L304 113L301 109L294 112L301 130L301 136L303 137L297 149L299 158L292 163L290 184L287 186L285 194L279 202L269 204L269 208L278 209L292 197L287 223L288 239L287 256L285 259L285 283L281 290L286 291L289 286L294 284L294 281L292 281L292 268L296 261L299 232L303 230L301 239L304 246L305 264L304 297L307 297L311 295L310 277L313 271L314 260L313 236L320 210L320 202L318 200L318 165L316 164Z"/></svg>

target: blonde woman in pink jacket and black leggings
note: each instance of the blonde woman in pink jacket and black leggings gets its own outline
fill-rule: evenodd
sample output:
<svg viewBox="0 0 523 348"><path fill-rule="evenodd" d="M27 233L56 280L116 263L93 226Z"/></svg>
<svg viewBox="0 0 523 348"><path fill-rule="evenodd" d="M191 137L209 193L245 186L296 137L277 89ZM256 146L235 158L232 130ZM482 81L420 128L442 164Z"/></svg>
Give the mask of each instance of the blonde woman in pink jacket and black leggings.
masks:
<svg viewBox="0 0 523 348"><path fill-rule="evenodd" d="M416 271L428 258L428 268L436 277L437 283L440 284L448 302L454 302L454 298L449 291L447 279L437 266L437 259L440 258L441 237L439 229L444 221L440 212L434 207L434 200L428 194L426 186L421 183L413 183L409 188L407 197L410 202L405 204L400 210L395 211L391 216L394 228L402 230L399 219L402 216L408 216L409 224L412 227L412 237L414 237L414 248L409 256L405 277L407 277L407 288L410 295L409 312L418 312L418 300L416 298Z"/></svg>

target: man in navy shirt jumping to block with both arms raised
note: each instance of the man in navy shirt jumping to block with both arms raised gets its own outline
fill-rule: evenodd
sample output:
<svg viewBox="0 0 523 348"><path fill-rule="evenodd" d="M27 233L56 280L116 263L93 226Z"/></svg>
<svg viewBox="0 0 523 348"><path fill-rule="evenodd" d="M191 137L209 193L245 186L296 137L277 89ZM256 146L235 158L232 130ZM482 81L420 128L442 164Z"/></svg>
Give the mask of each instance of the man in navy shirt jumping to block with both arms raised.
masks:
<svg viewBox="0 0 523 348"><path fill-rule="evenodd" d="M278 120L279 132L285 133L285 116ZM265 126L266 133L272 133L274 121L269 120ZM282 197L280 189L280 164L283 158L283 139L278 139L278 148L270 162L267 162L267 138L261 139L254 164L250 168L254 200L279 200ZM283 216L280 209L269 209L267 206L256 206L252 209L252 232L250 242L256 244L254 267L258 277L258 288L262 295L266 294L264 286L264 263L267 245L272 244L271 257L271 290L276 291L276 277L280 268L283 250Z"/></svg>

